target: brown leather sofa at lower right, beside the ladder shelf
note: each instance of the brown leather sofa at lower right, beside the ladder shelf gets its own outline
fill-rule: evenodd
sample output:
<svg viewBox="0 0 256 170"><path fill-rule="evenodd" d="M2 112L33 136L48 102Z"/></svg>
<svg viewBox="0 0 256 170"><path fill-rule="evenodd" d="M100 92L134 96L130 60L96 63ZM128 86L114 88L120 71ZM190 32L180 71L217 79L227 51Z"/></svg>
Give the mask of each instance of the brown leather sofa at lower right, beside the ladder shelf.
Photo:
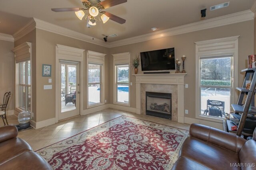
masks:
<svg viewBox="0 0 256 170"><path fill-rule="evenodd" d="M256 130L246 141L233 133L192 124L172 170L256 170Z"/></svg>

